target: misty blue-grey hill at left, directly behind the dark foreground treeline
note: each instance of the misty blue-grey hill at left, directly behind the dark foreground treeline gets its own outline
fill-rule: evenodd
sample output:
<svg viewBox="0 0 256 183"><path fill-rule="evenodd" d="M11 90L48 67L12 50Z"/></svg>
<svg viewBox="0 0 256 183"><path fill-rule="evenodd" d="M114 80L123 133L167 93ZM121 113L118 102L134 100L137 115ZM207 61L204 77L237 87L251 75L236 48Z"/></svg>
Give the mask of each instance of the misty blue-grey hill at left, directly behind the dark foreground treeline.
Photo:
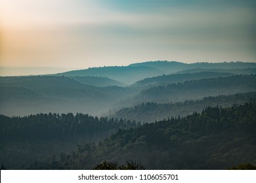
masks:
<svg viewBox="0 0 256 183"><path fill-rule="evenodd" d="M0 77L0 114L83 112L96 115L132 95L128 88L100 88L64 76Z"/></svg>

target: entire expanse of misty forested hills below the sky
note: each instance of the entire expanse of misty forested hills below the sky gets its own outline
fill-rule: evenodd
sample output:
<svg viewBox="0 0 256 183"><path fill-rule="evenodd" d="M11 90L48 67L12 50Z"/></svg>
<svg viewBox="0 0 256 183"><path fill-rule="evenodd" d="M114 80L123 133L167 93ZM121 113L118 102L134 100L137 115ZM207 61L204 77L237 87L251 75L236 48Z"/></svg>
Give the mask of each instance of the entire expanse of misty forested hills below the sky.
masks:
<svg viewBox="0 0 256 183"><path fill-rule="evenodd" d="M244 62L148 61L3 76L0 163L2 169L255 167L255 92L256 63Z"/></svg>

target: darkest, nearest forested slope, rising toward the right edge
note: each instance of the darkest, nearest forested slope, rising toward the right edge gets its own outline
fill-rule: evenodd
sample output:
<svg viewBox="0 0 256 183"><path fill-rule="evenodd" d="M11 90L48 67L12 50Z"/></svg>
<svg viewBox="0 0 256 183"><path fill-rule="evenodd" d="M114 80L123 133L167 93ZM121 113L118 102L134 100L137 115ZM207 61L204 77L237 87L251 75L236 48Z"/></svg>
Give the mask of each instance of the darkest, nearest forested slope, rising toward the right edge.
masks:
<svg viewBox="0 0 256 183"><path fill-rule="evenodd" d="M133 159L146 169L228 169L256 161L256 103L207 107L202 114L119 130L98 144L78 146L29 169L91 169Z"/></svg>

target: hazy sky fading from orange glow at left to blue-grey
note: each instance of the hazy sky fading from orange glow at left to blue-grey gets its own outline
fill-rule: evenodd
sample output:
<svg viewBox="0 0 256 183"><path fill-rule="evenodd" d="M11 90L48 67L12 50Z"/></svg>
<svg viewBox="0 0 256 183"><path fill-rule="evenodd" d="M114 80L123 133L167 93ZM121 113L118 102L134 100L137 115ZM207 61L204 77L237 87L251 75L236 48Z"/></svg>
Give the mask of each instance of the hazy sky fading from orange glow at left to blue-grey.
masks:
<svg viewBox="0 0 256 183"><path fill-rule="evenodd" d="M256 1L0 1L0 67L156 60L256 62Z"/></svg>

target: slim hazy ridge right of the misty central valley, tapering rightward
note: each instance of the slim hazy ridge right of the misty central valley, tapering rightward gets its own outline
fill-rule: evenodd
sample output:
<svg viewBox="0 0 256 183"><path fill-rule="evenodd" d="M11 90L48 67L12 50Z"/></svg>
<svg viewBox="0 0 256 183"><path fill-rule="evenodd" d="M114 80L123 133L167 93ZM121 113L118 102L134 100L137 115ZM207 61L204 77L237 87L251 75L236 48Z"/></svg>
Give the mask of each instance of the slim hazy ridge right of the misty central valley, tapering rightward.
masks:
<svg viewBox="0 0 256 183"><path fill-rule="evenodd" d="M153 78L146 78L132 84L131 87L150 88L153 86L163 86L172 83L185 82L186 80L199 80L203 78L218 78L233 76L232 73L215 73L215 72L201 72L201 73L186 73L186 74L173 74L162 75Z"/></svg>

